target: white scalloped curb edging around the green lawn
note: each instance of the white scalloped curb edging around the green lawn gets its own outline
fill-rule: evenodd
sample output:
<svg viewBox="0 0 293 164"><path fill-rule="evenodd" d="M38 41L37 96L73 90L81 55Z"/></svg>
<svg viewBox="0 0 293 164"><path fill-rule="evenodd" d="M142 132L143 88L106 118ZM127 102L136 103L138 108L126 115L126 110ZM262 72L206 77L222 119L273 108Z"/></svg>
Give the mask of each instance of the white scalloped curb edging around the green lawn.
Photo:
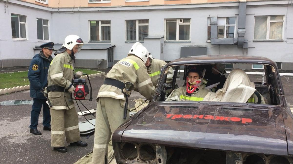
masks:
<svg viewBox="0 0 293 164"><path fill-rule="evenodd" d="M87 69L87 70L96 71L96 70L92 70L92 69ZM17 72L25 72L25 71L17 71ZM8 74L8 73L15 73L15 72L3 72L0 74ZM104 76L105 74L106 74L105 72L100 72L100 73L96 73L96 74L89 74L88 77L92 78L92 77ZM87 78L87 76L84 75L84 76L81 76L81 78ZM29 89L30 89L30 85L17 86L17 87L12 87L12 88L4 88L4 89L0 89L0 95L5 95L7 93L19 92L19 91L29 90Z"/></svg>

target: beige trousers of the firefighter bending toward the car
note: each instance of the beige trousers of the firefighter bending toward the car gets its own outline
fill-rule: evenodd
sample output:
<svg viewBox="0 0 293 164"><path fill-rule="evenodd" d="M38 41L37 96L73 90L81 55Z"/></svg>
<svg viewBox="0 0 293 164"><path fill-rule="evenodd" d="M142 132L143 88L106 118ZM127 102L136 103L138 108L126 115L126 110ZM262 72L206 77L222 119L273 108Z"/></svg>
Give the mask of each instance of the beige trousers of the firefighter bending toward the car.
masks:
<svg viewBox="0 0 293 164"><path fill-rule="evenodd" d="M110 97L99 97L98 99L93 146L93 164L105 164L105 156L106 152L108 153L111 135L119 125L125 123L129 118L129 111L127 111L127 119L123 119L123 103L124 100ZM113 148L110 147L109 149Z"/></svg>

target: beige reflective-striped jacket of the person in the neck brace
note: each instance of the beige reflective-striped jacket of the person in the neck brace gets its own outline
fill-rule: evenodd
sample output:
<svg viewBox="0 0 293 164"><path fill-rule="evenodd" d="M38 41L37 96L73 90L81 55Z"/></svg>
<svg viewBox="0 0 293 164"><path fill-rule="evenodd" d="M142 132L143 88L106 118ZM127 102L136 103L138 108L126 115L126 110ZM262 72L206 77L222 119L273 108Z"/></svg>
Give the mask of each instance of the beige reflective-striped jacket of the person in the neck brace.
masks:
<svg viewBox="0 0 293 164"><path fill-rule="evenodd" d="M173 93L171 93L171 96L166 99L166 101L202 101L207 93L209 93L209 90L203 88L204 87L200 86L198 88L199 90L195 90L191 96L188 96L186 95L186 86L181 86L174 90Z"/></svg>

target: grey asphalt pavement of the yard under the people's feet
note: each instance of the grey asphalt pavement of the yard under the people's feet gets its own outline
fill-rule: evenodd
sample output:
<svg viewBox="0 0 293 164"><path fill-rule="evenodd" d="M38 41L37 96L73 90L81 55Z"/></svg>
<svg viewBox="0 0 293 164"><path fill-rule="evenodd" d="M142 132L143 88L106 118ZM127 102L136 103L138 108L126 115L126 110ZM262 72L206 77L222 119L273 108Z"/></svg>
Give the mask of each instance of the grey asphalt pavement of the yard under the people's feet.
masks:
<svg viewBox="0 0 293 164"><path fill-rule="evenodd" d="M27 67L8 69L6 72L27 70ZM96 69L108 72L109 69ZM1 70L0 70L1 72ZM1 76L1 74L0 74ZM250 78L255 78L251 75ZM88 109L96 108L96 96L98 90L104 81L104 76L91 78L93 101L82 100ZM285 90L287 101L292 103L292 76L282 77L282 84ZM89 98L89 95L87 96ZM134 107L134 99L142 96L133 92L130 97L130 107ZM28 100L30 91L11 93L1 95L0 102L6 100ZM80 105L81 107L81 105ZM50 131L43 131L42 111L39 117L38 130L42 135L33 135L29 132L31 105L25 106L0 106L0 163L74 163L81 157L93 150L94 135L82 135L81 140L88 143L86 147L69 146L67 144L67 153L59 153L51 147ZM85 111L81 107L81 111ZM79 109L76 106L76 112ZM87 119L93 119L92 115L86 115ZM79 116L79 122L86 121L83 116Z"/></svg>

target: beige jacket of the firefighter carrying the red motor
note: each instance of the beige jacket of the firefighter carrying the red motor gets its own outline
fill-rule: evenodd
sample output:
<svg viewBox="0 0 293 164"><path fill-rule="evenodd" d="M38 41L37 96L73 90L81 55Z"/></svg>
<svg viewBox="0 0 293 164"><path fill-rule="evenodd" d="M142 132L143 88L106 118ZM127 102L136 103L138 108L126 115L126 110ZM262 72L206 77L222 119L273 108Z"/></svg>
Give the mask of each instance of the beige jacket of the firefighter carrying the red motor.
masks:
<svg viewBox="0 0 293 164"><path fill-rule="evenodd" d="M48 86L56 85L68 89L73 79L74 67L70 55L64 51L52 60L48 71ZM66 92L49 92L51 109L72 109L74 102L69 101L71 95Z"/></svg>

